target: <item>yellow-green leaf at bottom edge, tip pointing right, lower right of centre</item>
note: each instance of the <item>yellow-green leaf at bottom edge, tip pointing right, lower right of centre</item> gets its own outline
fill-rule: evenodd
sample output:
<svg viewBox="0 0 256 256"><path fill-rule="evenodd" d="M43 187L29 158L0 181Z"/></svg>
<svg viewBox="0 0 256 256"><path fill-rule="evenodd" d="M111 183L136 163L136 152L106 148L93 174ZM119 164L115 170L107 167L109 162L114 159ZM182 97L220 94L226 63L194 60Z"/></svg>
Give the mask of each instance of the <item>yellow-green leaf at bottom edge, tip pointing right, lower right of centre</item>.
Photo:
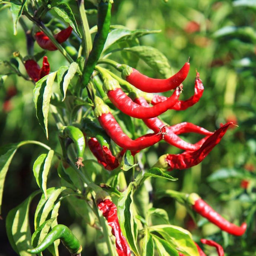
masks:
<svg viewBox="0 0 256 256"><path fill-rule="evenodd" d="M185 256L199 256L189 231L174 225L156 225L149 229L151 232L159 233L171 247Z"/></svg>

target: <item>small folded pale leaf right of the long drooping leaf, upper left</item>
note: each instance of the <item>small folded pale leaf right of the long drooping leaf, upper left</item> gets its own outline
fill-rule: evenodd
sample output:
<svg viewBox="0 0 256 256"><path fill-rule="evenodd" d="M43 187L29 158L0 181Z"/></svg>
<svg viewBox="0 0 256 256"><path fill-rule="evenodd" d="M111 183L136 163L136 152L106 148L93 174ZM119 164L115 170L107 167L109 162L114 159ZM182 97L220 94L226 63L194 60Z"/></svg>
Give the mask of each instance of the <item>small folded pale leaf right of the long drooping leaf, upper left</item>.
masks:
<svg viewBox="0 0 256 256"><path fill-rule="evenodd" d="M61 66L58 70L57 78L59 90L62 93L62 101L65 100L66 90L68 89L69 83L74 77L77 70L78 64L76 62L72 62L69 67Z"/></svg>

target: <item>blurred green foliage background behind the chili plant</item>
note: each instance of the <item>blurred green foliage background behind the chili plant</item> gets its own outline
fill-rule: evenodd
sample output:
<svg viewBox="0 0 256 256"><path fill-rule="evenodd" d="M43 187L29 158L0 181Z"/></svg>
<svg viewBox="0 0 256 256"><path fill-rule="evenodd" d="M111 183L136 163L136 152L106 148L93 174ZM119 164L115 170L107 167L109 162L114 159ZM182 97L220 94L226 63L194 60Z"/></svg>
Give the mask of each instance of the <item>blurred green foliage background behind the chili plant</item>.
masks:
<svg viewBox="0 0 256 256"><path fill-rule="evenodd" d="M73 1L69 2L71 5L74 4ZM92 4L85 2L85 7L86 5ZM88 19L93 26L96 16L90 15ZM256 249L255 19L255 1L214 0L169 0L167 3L160 0L116 0L111 19L111 24L122 24L130 29L161 29L160 33L142 37L141 44L153 46L163 52L172 66L173 73L178 71L190 57L191 68L184 82L182 99L193 94L195 70L199 71L205 87L203 97L199 103L186 111L168 111L163 115L167 123L172 125L187 121L208 130L215 130L220 123L230 120L239 125L228 131L220 145L213 149L201 164L184 171L174 170L171 175L179 178L178 182L166 183L162 180L154 180L153 183L156 191L160 188L171 188L188 193L197 192L223 216L237 221L236 224L247 219L249 224L247 233L242 238L237 238L220 232L211 224L201 228L203 220L199 222L199 228L195 229L183 206L167 198L155 201L154 207L168 211L172 224L188 228L195 239L214 238L226 247L227 255L233 256L256 255L254 252ZM14 36L11 20L9 10L2 9L0 12L0 59L2 60L10 59L12 52L17 50L21 55L26 55L24 33L18 26L18 34ZM66 60L58 52L51 52L47 56L52 71L66 64ZM24 71L23 67L20 69ZM142 61L138 63L137 69L148 76L159 76ZM0 73L6 73L5 70L6 67L0 65ZM5 111L3 102L6 91L13 85L18 93L11 99L11 110ZM49 123L49 130L52 131L49 141L38 125L33 105L32 83L17 76L9 76L5 83L0 85L0 100L1 145L21 140L40 140L53 149L59 147L55 124L51 121ZM185 138L192 142L197 139L195 135L188 135ZM40 150L33 145L19 149L10 166L3 197L3 220L0 220L1 256L15 255L5 235L5 217L10 209L36 190L32 166ZM143 161L146 166L147 164L152 166L158 156L166 152L176 154L180 151L160 143L147 152ZM50 175L48 180L55 184L56 171L52 170ZM242 180L250 181L247 189L241 187ZM71 225L79 218L72 216L65 204L60 211L59 223ZM88 248L86 255L95 255L93 244L90 244L90 230L78 226L75 228L78 233L85 233L83 239ZM63 253L65 254L66 251ZM214 255L210 253L209 251L209 255Z"/></svg>

